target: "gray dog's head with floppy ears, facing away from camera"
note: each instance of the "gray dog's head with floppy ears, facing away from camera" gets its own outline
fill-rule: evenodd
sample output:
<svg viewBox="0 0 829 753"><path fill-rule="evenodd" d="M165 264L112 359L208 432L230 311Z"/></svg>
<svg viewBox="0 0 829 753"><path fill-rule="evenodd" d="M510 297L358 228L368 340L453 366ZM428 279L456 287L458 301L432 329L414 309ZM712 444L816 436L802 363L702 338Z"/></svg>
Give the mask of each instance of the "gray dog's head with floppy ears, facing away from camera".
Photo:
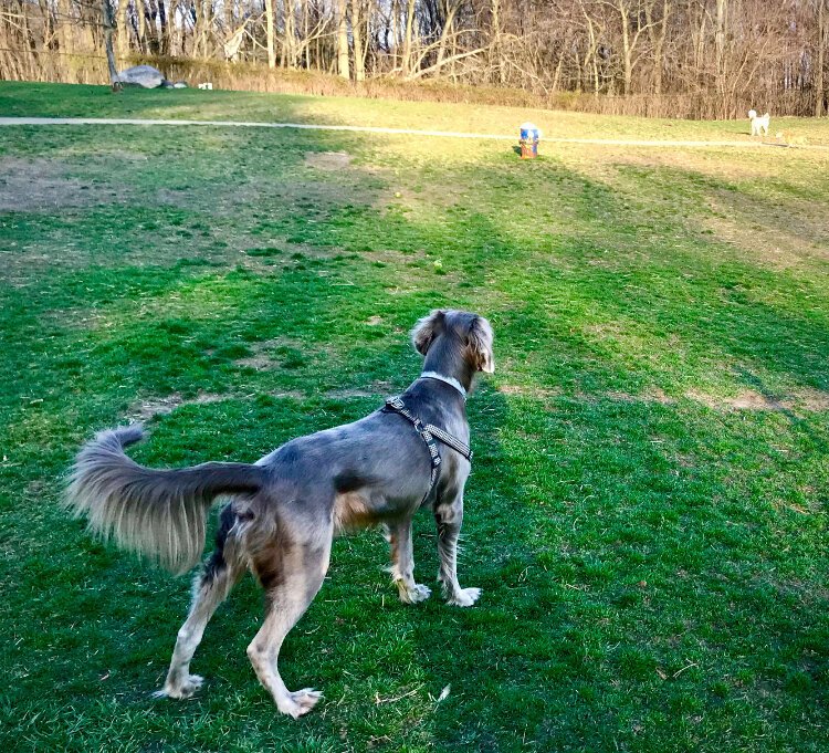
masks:
<svg viewBox="0 0 829 753"><path fill-rule="evenodd" d="M438 308L421 318L411 331L411 342L423 356L441 338L462 348L463 359L473 372L492 374L495 370L492 327L483 316L468 311Z"/></svg>

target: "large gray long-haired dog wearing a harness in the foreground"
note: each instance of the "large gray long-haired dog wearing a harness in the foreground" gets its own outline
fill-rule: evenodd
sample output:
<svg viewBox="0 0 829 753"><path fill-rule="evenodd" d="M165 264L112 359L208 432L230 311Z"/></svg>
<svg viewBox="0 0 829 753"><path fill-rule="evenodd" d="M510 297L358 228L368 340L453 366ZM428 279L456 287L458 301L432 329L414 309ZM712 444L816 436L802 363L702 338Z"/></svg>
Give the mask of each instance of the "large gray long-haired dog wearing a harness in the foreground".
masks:
<svg viewBox="0 0 829 753"><path fill-rule="evenodd" d="M190 674L190 660L213 611L250 568L266 595L264 623L248 647L253 669L282 713L311 711L319 692L287 690L276 662L285 636L323 584L332 540L348 529L384 524L400 599L422 602L430 590L414 583L411 544L411 519L422 504L432 508L438 524L438 579L448 602L475 603L481 592L461 588L455 555L470 472L465 398L476 372L494 370L492 328L475 314L434 311L418 322L412 341L426 356L423 372L397 409L387 406L294 439L255 464L144 468L123 450L141 438L137 426L103 431L81 450L67 506L86 514L93 531L177 574L201 556L213 500L232 495L158 696L187 698L201 686Z"/></svg>

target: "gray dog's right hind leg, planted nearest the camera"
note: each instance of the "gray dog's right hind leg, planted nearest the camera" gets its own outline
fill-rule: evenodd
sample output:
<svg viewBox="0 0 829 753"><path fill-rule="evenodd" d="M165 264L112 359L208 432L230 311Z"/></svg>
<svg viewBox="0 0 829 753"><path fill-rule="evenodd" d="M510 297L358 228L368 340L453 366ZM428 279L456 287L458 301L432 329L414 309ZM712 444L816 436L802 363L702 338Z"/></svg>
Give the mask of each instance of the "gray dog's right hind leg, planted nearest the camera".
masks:
<svg viewBox="0 0 829 753"><path fill-rule="evenodd" d="M333 529L315 542L298 543L282 532L274 545L256 554L253 569L265 588L265 621L248 647L248 657L276 708L294 719L319 700L313 688L290 691L277 667L285 636L305 614L328 571Z"/></svg>

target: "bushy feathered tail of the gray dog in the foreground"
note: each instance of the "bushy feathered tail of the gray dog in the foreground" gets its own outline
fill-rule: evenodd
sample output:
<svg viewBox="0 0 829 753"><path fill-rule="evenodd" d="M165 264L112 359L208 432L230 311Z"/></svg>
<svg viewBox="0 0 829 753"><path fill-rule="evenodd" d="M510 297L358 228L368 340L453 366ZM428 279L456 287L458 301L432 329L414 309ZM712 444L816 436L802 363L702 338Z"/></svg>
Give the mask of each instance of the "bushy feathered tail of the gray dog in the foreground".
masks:
<svg viewBox="0 0 829 753"><path fill-rule="evenodd" d="M199 561L207 513L219 494L254 493L264 471L246 463L209 462L153 470L124 454L139 441L139 425L106 430L75 459L65 506L86 515L90 529L118 546L181 574Z"/></svg>

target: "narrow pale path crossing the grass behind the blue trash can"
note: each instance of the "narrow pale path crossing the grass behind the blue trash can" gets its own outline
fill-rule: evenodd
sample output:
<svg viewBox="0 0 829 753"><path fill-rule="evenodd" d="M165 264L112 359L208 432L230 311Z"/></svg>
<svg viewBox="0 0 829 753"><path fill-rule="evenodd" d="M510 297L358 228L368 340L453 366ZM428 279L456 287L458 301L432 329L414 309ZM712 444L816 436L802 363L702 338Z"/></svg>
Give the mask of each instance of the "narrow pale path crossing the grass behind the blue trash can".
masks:
<svg viewBox="0 0 829 753"><path fill-rule="evenodd" d="M515 136L503 134L470 134L457 130L417 130L414 128L380 128L375 126L348 126L348 125L319 125L311 123L262 123L245 121L168 121L168 119L143 119L120 117L0 117L0 126L53 126L53 125L135 125L135 126L212 126L212 127L237 127L237 128L295 128L297 130L344 130L361 134L390 134L398 136L437 136L439 138L478 138L500 142L517 142ZM734 148L756 149L758 147L769 148L798 148L829 150L829 146L769 144L767 142L696 142L676 140L667 142L659 139L626 139L626 138L549 138L542 139L546 144L595 144L606 146L643 146L643 147L668 147L668 148Z"/></svg>

